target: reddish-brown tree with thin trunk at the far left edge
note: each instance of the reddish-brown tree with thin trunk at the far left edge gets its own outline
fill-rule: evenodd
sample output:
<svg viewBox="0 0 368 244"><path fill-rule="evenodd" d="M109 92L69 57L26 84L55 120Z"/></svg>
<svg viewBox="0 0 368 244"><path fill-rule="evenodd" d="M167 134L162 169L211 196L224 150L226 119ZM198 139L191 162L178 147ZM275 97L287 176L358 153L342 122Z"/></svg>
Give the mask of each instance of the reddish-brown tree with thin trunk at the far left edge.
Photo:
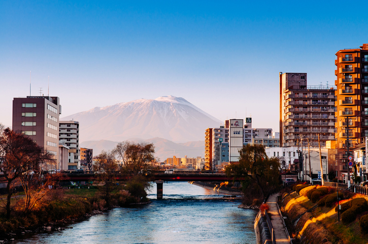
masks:
<svg viewBox="0 0 368 244"><path fill-rule="evenodd" d="M0 173L7 182L7 218L10 218L12 188L19 177L37 169L43 162L51 162L52 155L31 138L7 128L0 134Z"/></svg>

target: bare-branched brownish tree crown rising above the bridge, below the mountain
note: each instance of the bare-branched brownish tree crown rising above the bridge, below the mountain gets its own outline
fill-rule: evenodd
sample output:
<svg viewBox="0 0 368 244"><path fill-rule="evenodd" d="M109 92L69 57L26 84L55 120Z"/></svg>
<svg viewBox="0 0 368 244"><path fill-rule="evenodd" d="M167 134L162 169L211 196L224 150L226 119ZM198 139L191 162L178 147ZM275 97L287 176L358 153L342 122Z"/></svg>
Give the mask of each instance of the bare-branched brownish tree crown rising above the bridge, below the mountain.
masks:
<svg viewBox="0 0 368 244"><path fill-rule="evenodd" d="M137 175L154 160L155 147L152 143L120 142L113 150L123 163L122 173Z"/></svg>

